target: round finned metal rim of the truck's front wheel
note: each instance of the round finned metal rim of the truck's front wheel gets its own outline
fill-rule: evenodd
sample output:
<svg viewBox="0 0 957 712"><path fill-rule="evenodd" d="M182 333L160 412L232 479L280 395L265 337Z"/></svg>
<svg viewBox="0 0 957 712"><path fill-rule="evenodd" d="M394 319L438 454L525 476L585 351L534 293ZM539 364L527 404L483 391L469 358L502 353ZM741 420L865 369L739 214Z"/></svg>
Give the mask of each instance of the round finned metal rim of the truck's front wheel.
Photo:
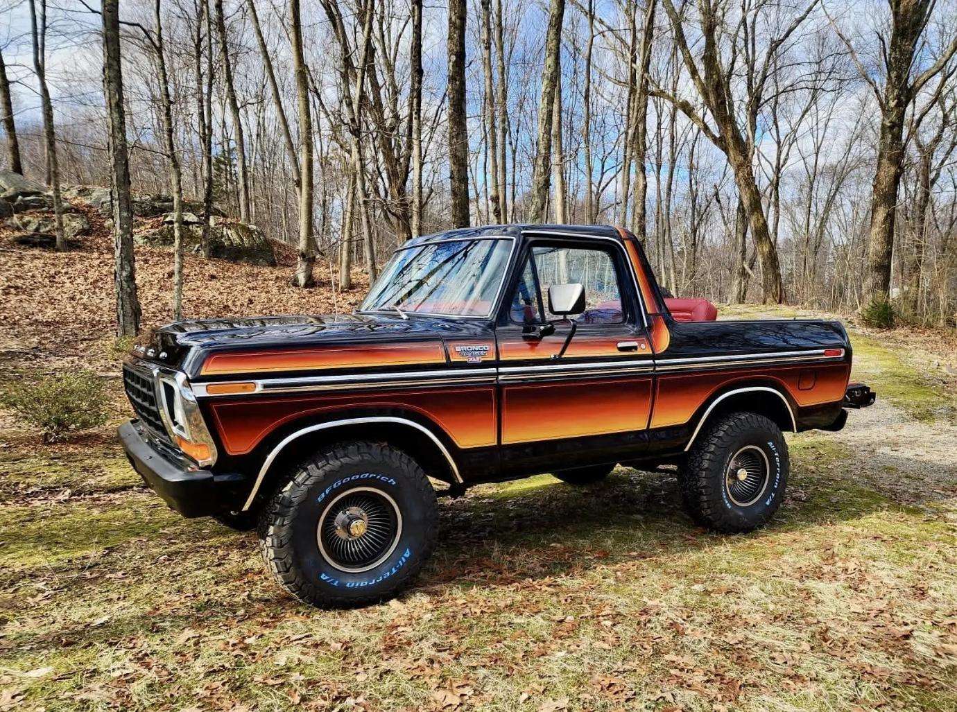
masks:
<svg viewBox="0 0 957 712"><path fill-rule="evenodd" d="M348 573L382 564L401 536L399 505L371 487L346 490L326 504L316 531L326 563Z"/></svg>

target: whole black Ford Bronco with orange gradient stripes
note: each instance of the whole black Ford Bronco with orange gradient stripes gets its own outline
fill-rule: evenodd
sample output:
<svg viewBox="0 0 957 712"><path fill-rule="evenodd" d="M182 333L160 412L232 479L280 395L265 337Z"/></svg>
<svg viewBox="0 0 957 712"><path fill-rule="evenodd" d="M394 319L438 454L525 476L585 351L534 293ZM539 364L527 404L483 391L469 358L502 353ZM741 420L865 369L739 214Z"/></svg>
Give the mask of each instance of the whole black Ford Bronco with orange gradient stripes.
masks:
<svg viewBox="0 0 957 712"><path fill-rule="evenodd" d="M258 526L308 603L377 601L437 537L436 491L677 465L699 523L781 504L782 431L874 402L837 322L715 321L666 299L634 235L497 226L410 240L350 315L169 324L126 358L120 435L187 517ZM442 493L438 493L442 494Z"/></svg>

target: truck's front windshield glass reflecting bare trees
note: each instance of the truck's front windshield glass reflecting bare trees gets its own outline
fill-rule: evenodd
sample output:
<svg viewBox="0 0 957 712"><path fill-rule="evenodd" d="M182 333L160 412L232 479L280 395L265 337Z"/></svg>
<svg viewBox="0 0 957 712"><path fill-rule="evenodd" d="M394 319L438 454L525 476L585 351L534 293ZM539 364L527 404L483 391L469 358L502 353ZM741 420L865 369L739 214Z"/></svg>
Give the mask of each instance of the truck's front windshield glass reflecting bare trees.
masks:
<svg viewBox="0 0 957 712"><path fill-rule="evenodd" d="M511 241L450 240L399 249L360 311L489 317L505 277Z"/></svg>

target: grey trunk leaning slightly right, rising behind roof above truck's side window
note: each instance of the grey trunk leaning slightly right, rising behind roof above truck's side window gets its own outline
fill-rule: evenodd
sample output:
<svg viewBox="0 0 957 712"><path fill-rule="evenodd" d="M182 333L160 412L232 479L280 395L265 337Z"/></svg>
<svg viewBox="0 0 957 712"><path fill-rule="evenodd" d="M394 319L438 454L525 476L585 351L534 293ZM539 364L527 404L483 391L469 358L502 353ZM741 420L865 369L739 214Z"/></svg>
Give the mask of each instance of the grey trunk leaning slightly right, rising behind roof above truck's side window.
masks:
<svg viewBox="0 0 957 712"><path fill-rule="evenodd" d="M531 208L528 219L533 223L545 220L548 182L551 173L551 122L555 109L555 86L558 83L559 56L562 49L562 23L565 0L551 0L548 30L545 33L545 67L542 73L542 96L539 99L538 146L532 166Z"/></svg>

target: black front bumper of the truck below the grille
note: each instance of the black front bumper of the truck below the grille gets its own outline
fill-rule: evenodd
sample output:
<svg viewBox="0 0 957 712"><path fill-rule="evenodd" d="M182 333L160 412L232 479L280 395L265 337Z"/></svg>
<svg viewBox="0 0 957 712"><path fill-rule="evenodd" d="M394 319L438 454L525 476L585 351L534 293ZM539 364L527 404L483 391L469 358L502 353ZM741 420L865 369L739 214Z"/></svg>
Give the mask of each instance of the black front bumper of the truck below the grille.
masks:
<svg viewBox="0 0 957 712"><path fill-rule="evenodd" d="M185 462L173 462L146 441L142 428L137 420L120 426L123 449L133 469L170 507L184 517L207 517L241 503L244 477L191 470Z"/></svg>

